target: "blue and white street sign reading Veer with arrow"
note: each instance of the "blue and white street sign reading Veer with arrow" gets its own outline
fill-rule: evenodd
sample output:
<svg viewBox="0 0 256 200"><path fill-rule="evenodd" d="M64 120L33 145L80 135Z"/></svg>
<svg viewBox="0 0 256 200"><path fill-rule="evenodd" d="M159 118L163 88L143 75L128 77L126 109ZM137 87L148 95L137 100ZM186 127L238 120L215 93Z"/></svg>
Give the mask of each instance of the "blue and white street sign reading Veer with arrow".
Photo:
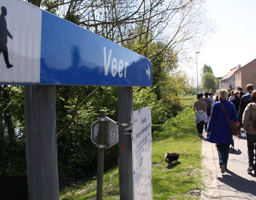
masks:
<svg viewBox="0 0 256 200"><path fill-rule="evenodd" d="M13 37L7 43L12 67L0 54L0 83L152 85L151 62L142 55L24 1L0 6Z"/></svg>

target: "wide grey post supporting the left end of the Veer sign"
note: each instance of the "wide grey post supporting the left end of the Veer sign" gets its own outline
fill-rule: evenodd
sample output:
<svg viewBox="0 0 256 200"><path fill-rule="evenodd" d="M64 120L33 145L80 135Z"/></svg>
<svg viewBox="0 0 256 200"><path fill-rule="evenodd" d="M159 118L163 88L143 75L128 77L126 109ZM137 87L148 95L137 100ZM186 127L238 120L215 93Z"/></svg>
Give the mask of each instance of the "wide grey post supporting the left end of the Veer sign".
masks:
<svg viewBox="0 0 256 200"><path fill-rule="evenodd" d="M59 199L55 86L25 86L28 198Z"/></svg>

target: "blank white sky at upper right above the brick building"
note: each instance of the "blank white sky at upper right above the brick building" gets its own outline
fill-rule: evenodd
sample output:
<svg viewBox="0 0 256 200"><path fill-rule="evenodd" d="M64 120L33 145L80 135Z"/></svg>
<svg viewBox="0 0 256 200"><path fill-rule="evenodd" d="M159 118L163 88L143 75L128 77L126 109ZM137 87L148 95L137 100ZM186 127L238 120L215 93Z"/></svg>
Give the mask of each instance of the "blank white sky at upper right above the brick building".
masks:
<svg viewBox="0 0 256 200"><path fill-rule="evenodd" d="M200 52L198 76L205 63L215 77L223 77L230 69L256 59L256 0L206 0L205 8L216 30L200 49L191 52L195 60Z"/></svg>

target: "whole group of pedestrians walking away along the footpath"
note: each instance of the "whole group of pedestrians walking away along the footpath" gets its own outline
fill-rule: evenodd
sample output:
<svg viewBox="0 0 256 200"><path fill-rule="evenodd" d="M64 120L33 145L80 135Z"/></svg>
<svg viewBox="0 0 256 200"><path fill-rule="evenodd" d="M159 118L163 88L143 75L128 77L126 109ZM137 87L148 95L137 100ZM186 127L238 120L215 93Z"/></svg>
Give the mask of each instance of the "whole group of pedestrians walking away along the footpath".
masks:
<svg viewBox="0 0 256 200"><path fill-rule="evenodd" d="M233 143L233 135L230 132L228 120L233 120L239 128L242 125L244 126L249 158L249 168L247 171L254 171L254 174L256 173L256 163L254 163L256 90L253 90L252 84L247 84L246 90L247 93L244 94L241 88L231 92L222 89L214 100L211 98L211 94L209 95L206 92L205 98L203 94L198 94L198 100L194 103L198 136L202 137L203 126L207 125L205 130L207 133L206 140L216 144L221 173L225 173L227 170L229 146ZM208 96L210 97L208 98Z"/></svg>

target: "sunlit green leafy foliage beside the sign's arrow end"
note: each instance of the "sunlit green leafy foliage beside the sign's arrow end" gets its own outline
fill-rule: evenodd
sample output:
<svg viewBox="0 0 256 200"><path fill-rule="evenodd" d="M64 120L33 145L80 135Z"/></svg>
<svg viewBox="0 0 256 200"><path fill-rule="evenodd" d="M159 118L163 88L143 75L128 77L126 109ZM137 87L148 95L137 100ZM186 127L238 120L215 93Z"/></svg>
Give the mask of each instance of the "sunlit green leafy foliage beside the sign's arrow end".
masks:
<svg viewBox="0 0 256 200"><path fill-rule="evenodd" d="M140 35L145 30L146 26L139 24L135 32ZM152 62L154 87L134 90L134 109L143 106L152 107L152 127L155 137L157 132L154 131L161 130L162 124L181 110L180 94L187 92L187 76L181 71L174 72L177 68L177 55L174 55L167 44L150 42L150 36L150 33L141 34L140 37L126 41L123 45L144 55Z"/></svg>

